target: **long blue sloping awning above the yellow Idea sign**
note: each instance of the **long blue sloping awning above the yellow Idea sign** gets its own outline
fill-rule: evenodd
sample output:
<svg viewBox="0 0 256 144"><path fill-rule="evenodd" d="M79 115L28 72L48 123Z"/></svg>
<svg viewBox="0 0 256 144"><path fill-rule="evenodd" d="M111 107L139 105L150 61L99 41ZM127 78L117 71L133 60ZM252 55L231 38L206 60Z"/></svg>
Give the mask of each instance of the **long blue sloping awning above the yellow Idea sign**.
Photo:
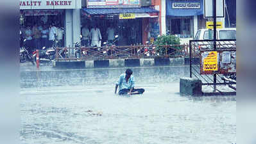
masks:
<svg viewBox="0 0 256 144"><path fill-rule="evenodd" d="M154 10L149 7L142 8L83 8L83 11L89 15L104 15L115 13L158 13L158 10Z"/></svg>

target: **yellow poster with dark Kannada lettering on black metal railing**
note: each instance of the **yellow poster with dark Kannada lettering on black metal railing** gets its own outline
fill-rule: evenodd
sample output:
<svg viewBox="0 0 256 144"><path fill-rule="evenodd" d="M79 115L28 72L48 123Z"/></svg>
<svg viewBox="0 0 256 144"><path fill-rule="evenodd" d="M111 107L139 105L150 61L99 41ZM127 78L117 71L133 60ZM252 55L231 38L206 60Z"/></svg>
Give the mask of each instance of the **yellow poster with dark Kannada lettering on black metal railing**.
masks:
<svg viewBox="0 0 256 144"><path fill-rule="evenodd" d="M208 56L203 60L203 70L218 70L218 54L217 51L209 52Z"/></svg>

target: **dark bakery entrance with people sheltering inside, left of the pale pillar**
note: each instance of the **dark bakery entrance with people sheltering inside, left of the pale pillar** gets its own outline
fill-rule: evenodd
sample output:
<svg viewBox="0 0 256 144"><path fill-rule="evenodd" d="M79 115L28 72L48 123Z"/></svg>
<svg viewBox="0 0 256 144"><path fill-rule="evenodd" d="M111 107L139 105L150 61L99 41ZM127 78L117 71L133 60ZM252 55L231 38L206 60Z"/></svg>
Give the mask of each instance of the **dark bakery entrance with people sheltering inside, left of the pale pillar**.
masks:
<svg viewBox="0 0 256 144"><path fill-rule="evenodd" d="M21 10L20 30L21 46L25 45L28 49L42 49L42 47L52 47L49 40L50 26L56 27L56 45L64 46L64 10ZM35 34L37 31L37 34ZM57 35L58 31L58 35ZM26 42L23 40L26 38Z"/></svg>

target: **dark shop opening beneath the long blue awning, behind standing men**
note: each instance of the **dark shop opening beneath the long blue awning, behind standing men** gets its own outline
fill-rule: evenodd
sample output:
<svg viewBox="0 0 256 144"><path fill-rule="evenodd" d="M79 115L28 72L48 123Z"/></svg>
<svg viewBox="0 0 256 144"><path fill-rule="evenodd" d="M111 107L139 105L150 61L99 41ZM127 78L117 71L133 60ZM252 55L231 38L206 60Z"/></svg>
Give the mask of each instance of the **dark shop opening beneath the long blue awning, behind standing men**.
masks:
<svg viewBox="0 0 256 144"><path fill-rule="evenodd" d="M92 17L81 17L81 26L89 29L96 25L101 31L101 45L107 42L107 29L112 25L115 35L118 35L116 45L139 45L142 44L142 19L119 19L118 14L93 15Z"/></svg>

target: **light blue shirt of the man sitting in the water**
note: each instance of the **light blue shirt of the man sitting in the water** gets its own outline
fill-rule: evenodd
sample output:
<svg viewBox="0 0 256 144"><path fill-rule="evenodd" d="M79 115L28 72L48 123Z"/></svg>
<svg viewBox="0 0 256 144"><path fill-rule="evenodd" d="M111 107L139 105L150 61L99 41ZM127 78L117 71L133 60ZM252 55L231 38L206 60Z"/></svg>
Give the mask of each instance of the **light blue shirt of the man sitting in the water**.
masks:
<svg viewBox="0 0 256 144"><path fill-rule="evenodd" d="M130 88L134 88L134 77L131 75L130 78L128 79L128 83L126 83L125 80L125 76L126 74L121 74L118 81L117 81L117 85L119 85L119 90L122 90L124 88L130 89Z"/></svg>

